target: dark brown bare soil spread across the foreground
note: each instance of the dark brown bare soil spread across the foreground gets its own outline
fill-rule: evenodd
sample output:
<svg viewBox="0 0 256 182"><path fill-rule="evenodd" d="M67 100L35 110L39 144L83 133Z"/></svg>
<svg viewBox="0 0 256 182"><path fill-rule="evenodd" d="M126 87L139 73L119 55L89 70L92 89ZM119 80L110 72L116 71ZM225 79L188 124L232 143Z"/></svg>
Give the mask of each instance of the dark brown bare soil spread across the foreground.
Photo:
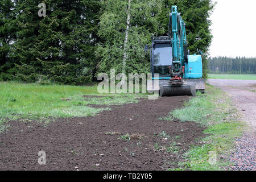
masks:
<svg viewBox="0 0 256 182"><path fill-rule="evenodd" d="M59 118L39 122L10 121L0 134L0 170L164 170L177 167L189 146L204 137L195 122L161 121L160 117L181 107L188 96L141 100L137 104L112 106L94 117ZM165 131L171 138L158 135ZM115 135L106 134L118 132ZM129 142L125 134L146 139ZM179 137L177 137L179 136ZM176 144L173 144L176 142ZM176 154L167 152L179 148ZM46 152L46 165L38 164L38 152Z"/></svg>

